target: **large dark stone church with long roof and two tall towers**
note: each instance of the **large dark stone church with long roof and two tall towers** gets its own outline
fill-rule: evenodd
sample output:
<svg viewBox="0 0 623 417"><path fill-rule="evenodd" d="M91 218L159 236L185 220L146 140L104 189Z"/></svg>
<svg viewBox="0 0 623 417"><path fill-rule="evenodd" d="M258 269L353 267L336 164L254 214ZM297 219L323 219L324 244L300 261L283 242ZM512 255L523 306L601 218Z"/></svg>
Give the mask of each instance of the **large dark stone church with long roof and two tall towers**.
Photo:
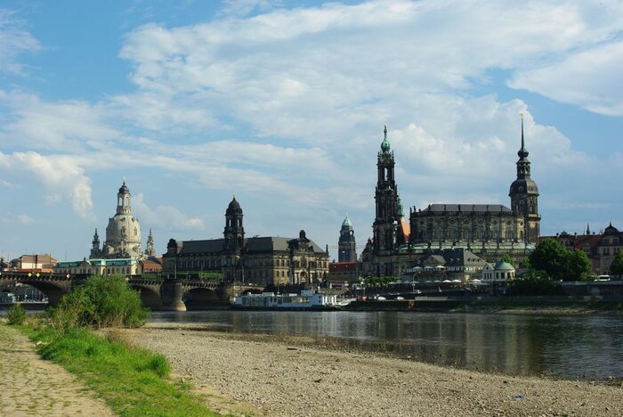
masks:
<svg viewBox="0 0 623 417"><path fill-rule="evenodd" d="M409 208L409 218L405 218L385 127L376 162L373 236L361 254L363 276L399 276L437 249L468 249L489 261L505 254L518 261L528 256L538 243L541 218L538 186L530 177L528 154L522 119L517 176L508 194L510 208L503 204L429 204Z"/></svg>

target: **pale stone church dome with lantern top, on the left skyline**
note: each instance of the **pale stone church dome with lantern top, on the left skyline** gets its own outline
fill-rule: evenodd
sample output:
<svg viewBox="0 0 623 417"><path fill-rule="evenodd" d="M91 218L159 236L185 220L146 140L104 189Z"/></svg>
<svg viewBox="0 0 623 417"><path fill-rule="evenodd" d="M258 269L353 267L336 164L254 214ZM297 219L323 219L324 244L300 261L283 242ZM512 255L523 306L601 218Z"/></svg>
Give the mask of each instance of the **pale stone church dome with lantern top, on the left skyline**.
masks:
<svg viewBox="0 0 623 417"><path fill-rule="evenodd" d="M124 184L117 193L117 214L109 218L104 242L105 258L141 258L141 225L132 215L132 194Z"/></svg>

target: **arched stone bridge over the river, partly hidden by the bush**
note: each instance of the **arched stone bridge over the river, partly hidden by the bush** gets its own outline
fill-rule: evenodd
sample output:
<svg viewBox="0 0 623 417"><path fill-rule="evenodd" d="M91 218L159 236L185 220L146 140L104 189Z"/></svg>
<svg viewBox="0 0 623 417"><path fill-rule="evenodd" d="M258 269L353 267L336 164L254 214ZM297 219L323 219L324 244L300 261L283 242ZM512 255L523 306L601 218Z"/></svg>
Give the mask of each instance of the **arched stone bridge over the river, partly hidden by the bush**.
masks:
<svg viewBox="0 0 623 417"><path fill-rule="evenodd" d="M21 282L43 292L50 305L55 306L61 297L84 282L87 275L26 273L2 271L0 290L12 282ZM261 293L263 285L244 282L220 282L201 279L157 280L131 277L128 283L139 291L145 307L152 310L185 311L226 307L231 297L244 292Z"/></svg>

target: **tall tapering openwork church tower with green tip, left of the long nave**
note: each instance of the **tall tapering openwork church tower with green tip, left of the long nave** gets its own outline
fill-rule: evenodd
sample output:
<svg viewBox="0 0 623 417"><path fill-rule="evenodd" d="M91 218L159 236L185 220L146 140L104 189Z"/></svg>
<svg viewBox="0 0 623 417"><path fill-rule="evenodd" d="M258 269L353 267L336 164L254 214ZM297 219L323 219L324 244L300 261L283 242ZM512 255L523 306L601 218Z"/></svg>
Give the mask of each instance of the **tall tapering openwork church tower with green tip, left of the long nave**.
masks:
<svg viewBox="0 0 623 417"><path fill-rule="evenodd" d="M383 132L384 139L376 161L376 217L372 225L376 254L386 254L396 248L396 229L400 222L398 189L393 177L395 162L387 140L387 126Z"/></svg>

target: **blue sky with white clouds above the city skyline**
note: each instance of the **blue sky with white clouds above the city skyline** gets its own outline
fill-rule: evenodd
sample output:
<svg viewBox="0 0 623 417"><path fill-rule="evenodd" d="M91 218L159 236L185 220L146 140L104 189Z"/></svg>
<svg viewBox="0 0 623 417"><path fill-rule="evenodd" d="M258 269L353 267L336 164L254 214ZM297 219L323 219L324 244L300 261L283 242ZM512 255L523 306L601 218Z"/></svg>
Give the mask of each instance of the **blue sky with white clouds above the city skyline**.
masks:
<svg viewBox="0 0 623 417"><path fill-rule="evenodd" d="M0 1L0 257L88 257L125 176L143 240L374 221L384 125L406 208L502 203L520 113L541 233L623 227L623 3Z"/></svg>

